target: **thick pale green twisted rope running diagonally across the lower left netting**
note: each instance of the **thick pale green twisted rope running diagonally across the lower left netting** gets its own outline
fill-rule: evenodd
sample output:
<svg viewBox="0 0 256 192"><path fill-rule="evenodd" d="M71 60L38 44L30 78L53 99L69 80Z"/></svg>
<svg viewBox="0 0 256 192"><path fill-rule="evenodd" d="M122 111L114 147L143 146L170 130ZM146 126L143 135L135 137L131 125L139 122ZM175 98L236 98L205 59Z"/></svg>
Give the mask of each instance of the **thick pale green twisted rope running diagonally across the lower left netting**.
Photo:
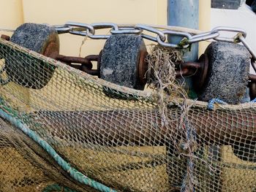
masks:
<svg viewBox="0 0 256 192"><path fill-rule="evenodd" d="M27 136L29 136L31 139L34 140L34 142L37 142L45 151L49 153L51 157L54 158L54 160L61 166L64 171L68 172L72 178L77 180L80 183L83 183L85 185L89 185L92 188L102 191L102 192L115 192L113 189L108 188L107 186L98 183L95 180L90 179L89 177L86 177L86 175L82 174L81 172L78 172L75 168L70 166L67 161L64 161L61 156L56 153L56 150L51 147L48 142L45 142L42 138L37 135L36 132L32 131L30 128L28 128L26 125L24 125L20 120L17 118L13 118L11 115L9 115L7 112L4 112L4 110L0 109L0 116L1 118L4 118L8 120L12 125L19 128L23 133L25 133Z"/></svg>

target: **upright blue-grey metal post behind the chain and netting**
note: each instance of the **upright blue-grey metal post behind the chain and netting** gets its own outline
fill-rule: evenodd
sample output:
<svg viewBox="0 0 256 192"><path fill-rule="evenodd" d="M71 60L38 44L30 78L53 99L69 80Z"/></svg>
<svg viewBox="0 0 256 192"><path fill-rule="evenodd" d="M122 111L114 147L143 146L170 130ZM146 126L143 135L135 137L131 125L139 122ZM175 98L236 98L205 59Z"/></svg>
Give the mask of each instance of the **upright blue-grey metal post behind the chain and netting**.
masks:
<svg viewBox="0 0 256 192"><path fill-rule="evenodd" d="M186 28L198 29L199 26L199 0L168 0L167 4L167 23L168 26L181 26ZM168 41L173 44L181 42L181 37L169 36ZM198 58L198 43L192 44L191 50L184 54L184 61L197 61ZM184 79L179 79L184 82ZM189 90L189 96L194 99L196 93L192 88L192 80L185 79L186 89ZM173 147L167 146L167 154L172 156L176 154ZM184 166L181 169L180 166ZM173 187L181 186L186 175L187 161L184 159L183 164L167 164L167 174L169 174L169 184ZM171 172L176 172L176 175L171 175Z"/></svg>

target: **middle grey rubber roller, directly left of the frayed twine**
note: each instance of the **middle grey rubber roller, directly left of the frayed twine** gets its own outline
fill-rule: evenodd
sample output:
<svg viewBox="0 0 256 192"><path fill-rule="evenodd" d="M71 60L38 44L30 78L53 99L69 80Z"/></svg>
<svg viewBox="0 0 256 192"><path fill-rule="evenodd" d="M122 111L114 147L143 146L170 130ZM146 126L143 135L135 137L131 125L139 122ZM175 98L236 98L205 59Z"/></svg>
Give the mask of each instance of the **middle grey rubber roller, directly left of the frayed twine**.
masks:
<svg viewBox="0 0 256 192"><path fill-rule="evenodd" d="M143 90L138 78L141 51L146 51L143 38L134 34L112 35L105 43L100 62L100 78L128 88Z"/></svg>

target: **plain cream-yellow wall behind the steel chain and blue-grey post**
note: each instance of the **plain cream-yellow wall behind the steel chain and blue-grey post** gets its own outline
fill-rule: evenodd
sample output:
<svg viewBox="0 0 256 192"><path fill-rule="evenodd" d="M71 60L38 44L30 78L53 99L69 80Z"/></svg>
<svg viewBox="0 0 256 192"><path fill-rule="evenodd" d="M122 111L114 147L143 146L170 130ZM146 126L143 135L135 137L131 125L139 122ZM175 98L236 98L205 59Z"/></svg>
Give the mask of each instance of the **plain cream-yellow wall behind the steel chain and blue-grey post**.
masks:
<svg viewBox="0 0 256 192"><path fill-rule="evenodd" d="M210 29L210 4L211 0L200 0L200 29ZM27 22L56 25L67 21L167 24L167 0L1 0L1 7L3 28L17 28ZM83 37L61 35L61 53L78 55L82 41ZM102 40L88 40L82 53L97 54L103 45Z"/></svg>

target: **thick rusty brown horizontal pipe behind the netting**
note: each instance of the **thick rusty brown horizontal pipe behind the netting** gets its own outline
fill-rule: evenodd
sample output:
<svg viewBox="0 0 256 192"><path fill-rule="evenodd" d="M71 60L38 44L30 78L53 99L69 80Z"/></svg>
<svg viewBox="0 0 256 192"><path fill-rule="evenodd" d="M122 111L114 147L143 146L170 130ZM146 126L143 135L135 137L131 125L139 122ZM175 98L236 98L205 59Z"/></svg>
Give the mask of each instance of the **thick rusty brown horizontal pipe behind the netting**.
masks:
<svg viewBox="0 0 256 192"><path fill-rule="evenodd" d="M157 110L118 110L88 112L39 112L38 123L50 128L62 139L76 139L97 145L167 145L185 138L181 110L168 110L170 120L162 126ZM255 110L216 110L192 108L187 118L195 128L201 145L233 145L236 142L256 142ZM79 122L78 122L79 121ZM77 123L75 123L77 122ZM76 125L76 126L74 126ZM186 139L185 139L186 140Z"/></svg>

